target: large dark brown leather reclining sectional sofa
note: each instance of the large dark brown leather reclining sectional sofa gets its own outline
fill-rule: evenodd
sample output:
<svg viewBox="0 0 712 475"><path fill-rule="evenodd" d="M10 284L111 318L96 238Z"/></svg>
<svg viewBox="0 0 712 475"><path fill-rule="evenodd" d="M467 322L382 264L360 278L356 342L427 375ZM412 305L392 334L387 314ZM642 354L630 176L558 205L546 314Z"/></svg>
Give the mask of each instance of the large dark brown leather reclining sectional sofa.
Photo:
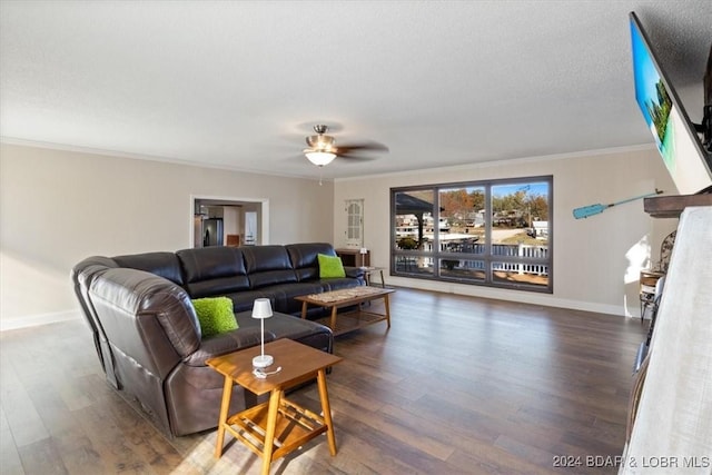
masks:
<svg viewBox="0 0 712 475"><path fill-rule="evenodd" d="M332 330L294 315L299 295L364 285L363 270L319 278L318 254L330 244L206 247L83 259L72 268L75 291L93 333L107 380L140 406L168 436L217 426L224 378L208 358L258 345L256 298L276 313L265 340L290 338L333 352ZM227 296L238 328L204 338L191 299ZM256 396L235 386L230 414L254 406Z"/></svg>

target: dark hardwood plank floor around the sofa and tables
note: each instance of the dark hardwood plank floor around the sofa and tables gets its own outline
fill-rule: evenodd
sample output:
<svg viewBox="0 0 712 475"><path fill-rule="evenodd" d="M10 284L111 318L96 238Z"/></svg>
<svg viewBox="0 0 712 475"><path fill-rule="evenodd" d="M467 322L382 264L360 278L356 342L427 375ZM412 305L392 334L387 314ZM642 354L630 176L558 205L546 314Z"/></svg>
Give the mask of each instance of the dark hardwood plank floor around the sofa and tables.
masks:
<svg viewBox="0 0 712 475"><path fill-rule="evenodd" d="M392 318L336 340L337 455L319 437L273 473L617 472L639 319L403 288ZM3 475L259 473L239 443L215 459L215 431L156 431L105 382L83 321L2 333L0 388ZM316 385L290 396L319 407Z"/></svg>

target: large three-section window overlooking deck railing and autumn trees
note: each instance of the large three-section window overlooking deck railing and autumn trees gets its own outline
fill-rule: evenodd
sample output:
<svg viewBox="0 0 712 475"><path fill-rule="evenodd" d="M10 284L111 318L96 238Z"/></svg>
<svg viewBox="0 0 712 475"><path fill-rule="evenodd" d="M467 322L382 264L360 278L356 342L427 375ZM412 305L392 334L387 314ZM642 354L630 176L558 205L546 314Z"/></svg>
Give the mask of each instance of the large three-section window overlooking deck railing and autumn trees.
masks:
<svg viewBox="0 0 712 475"><path fill-rule="evenodd" d="M390 274L552 293L552 177L392 188Z"/></svg>

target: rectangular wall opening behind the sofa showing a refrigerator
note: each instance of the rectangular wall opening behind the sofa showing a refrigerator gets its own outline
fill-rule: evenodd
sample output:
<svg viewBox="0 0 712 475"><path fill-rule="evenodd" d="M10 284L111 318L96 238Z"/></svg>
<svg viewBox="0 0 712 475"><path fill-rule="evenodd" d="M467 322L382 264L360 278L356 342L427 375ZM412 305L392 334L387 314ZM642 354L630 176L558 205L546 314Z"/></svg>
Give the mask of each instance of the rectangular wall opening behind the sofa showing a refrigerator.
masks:
<svg viewBox="0 0 712 475"><path fill-rule="evenodd" d="M269 244L269 200L190 196L190 246Z"/></svg>

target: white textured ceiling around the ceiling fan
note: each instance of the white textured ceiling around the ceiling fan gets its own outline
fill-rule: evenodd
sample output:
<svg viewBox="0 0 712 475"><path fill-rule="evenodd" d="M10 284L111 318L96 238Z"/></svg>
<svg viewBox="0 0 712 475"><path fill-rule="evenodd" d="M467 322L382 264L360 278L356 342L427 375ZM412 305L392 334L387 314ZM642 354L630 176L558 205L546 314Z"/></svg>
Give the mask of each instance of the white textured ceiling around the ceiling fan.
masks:
<svg viewBox="0 0 712 475"><path fill-rule="evenodd" d="M699 121L709 0L3 0L0 136L301 177L317 122L390 149L325 178L652 144L630 11Z"/></svg>

